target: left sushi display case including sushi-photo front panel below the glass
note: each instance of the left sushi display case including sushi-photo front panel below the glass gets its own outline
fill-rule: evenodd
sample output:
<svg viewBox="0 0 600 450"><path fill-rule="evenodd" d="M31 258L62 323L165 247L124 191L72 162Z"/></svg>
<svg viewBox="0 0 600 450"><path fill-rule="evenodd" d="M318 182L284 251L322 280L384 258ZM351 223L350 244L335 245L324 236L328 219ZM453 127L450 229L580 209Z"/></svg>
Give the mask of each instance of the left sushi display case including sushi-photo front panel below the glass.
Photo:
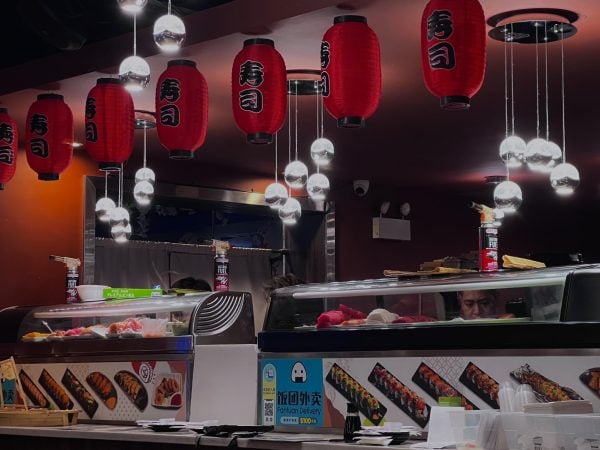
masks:
<svg viewBox="0 0 600 450"><path fill-rule="evenodd" d="M82 422L189 420L201 381L194 371L214 365L201 349L256 339L243 292L8 308L0 329L15 309L22 320L4 327L0 354L14 356L26 401L79 409Z"/></svg>

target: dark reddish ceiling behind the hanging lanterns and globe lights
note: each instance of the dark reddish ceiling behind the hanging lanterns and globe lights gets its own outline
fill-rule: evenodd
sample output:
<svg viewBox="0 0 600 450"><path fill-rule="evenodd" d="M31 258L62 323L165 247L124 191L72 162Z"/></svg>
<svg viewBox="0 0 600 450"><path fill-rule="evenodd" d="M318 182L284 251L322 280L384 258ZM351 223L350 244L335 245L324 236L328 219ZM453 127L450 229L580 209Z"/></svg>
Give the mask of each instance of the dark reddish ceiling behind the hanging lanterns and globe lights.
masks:
<svg viewBox="0 0 600 450"><path fill-rule="evenodd" d="M81 48L71 45L73 50L61 50L55 45L61 41L58 37L54 41L44 39L31 24L36 23L34 18L39 19L44 4L47 13L48 5L63 2L6 3L3 8L9 9L15 20L9 21L13 26L0 30L2 41L23 39L26 44L10 49L0 64L0 104L8 107L22 126L27 108L39 93L49 90L61 93L75 115L76 139L83 141L85 97L97 78L114 76L119 62L128 56L132 45L131 18L120 12L115 0L65 1L75 11L63 20L65 29L87 34L85 42L79 41ZM595 55L600 27L594 24L600 22L600 2L482 0L481 3L486 17L524 7L568 8L582 15L576 23L579 32L565 41L567 149L568 159L580 169L581 191L596 196L595 173L600 156L596 148L595 85L600 58ZM150 64L152 81L143 92L134 94L137 109L154 109L154 83L167 61L173 59L157 54L152 40L151 24L164 13L165 4L166 1L150 0L149 8L140 18L138 54ZM504 173L497 150L505 132L504 46L487 39L486 77L471 109L442 111L422 81L419 26L425 0L173 0L173 4L184 16L187 28L186 46L178 57L196 61L208 82L209 127L204 146L191 161L169 160L155 131L149 131L149 162L159 180L201 185L203 173L208 170L222 171L224 177L228 173L270 176L274 170L274 147L247 144L234 123L231 63L244 39L261 35L275 41L288 69L316 69L324 32L335 16L349 13L365 15L379 37L382 98L364 129L337 129L335 120L326 115L325 135L336 146L334 162L327 169L334 188L353 179L369 179L372 183L398 188L476 192L489 188L484 184L486 175ZM22 26L23 23L28 25ZM81 26L84 23L93 25ZM525 139L536 134L534 47L515 48L516 128ZM556 142L562 141L559 51L559 44L550 45L550 126ZM314 98L307 97L299 104L300 157L306 160L316 134L314 102ZM141 160L140 133L137 132L138 145L127 168L129 175ZM287 158L287 139L286 125L280 133L281 164ZM550 190L547 178L542 175L520 169L511 176L525 186Z"/></svg>

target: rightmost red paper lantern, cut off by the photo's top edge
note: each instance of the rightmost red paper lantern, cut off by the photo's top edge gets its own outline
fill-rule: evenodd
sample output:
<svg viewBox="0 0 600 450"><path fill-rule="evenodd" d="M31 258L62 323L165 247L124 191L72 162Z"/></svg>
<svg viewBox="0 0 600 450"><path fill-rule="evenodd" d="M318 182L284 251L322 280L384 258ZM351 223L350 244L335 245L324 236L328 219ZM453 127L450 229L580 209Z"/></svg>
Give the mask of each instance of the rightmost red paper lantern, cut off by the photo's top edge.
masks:
<svg viewBox="0 0 600 450"><path fill-rule="evenodd" d="M443 109L460 110L481 88L485 17L478 0L431 0L421 18L421 61L429 91Z"/></svg>

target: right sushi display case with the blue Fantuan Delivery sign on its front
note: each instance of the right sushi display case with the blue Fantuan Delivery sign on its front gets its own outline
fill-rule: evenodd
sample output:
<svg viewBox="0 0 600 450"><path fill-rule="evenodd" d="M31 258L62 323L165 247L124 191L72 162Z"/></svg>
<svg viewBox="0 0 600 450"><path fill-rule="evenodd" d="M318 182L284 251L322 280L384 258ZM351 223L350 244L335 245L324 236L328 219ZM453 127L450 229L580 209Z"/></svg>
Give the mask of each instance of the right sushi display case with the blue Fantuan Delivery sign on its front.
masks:
<svg viewBox="0 0 600 450"><path fill-rule="evenodd" d="M463 299L492 304L467 317ZM503 382L600 412L598 305L596 265L278 289L258 335L259 421L341 429L355 403L363 425L427 430L447 397L498 409Z"/></svg>

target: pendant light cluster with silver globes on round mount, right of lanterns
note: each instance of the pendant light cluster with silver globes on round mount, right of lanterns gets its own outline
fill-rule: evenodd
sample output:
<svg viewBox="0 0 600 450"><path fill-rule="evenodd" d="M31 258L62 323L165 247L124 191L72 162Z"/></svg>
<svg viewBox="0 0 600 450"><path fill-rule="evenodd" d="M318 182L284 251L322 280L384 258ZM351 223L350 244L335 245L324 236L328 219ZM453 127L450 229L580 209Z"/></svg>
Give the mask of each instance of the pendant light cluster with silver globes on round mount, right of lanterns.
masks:
<svg viewBox="0 0 600 450"><path fill-rule="evenodd" d="M512 129L509 134L508 126L508 108L505 102L506 111L506 138L500 144L500 158L509 168L519 168L526 164L527 168L533 172L550 174L550 184L559 195L570 195L579 185L579 171L577 168L566 161L566 133L565 133L565 72L564 72L564 40L577 32L573 22L578 19L578 15L567 10L547 10L530 9L528 13L551 15L552 18L515 21L506 23L507 18L518 16L521 11L512 11L501 13L491 17L488 23L492 26L503 22L503 25L496 26L490 31L490 36L496 40L510 43L510 97L511 97L511 121ZM558 18L562 17L566 21ZM560 41L560 65L561 65L561 109L562 109L562 148L550 139L550 120L549 120L549 78L548 78L548 46L550 43ZM536 136L525 143L525 141L515 134L515 113L514 113L514 84L513 84L513 44L535 44L535 79L536 79ZM539 46L543 44L543 58L539 55ZM543 63L543 76L540 76L540 59ZM506 45L505 45L505 97L508 100L506 70ZM540 82L540 79L542 82ZM540 98L542 97L540 85L543 87L544 95L544 115L545 134L541 133L540 125L541 108ZM500 187L500 185L498 186ZM497 189L498 189L497 187ZM501 194L506 196L508 193L514 194L515 204L519 203L518 197L522 194L516 192L515 186L503 189ZM522 200L522 198L521 198ZM503 201L499 199L499 202ZM504 200L506 202L506 200ZM514 206L514 205L513 205ZM510 212L505 210L505 212Z"/></svg>

